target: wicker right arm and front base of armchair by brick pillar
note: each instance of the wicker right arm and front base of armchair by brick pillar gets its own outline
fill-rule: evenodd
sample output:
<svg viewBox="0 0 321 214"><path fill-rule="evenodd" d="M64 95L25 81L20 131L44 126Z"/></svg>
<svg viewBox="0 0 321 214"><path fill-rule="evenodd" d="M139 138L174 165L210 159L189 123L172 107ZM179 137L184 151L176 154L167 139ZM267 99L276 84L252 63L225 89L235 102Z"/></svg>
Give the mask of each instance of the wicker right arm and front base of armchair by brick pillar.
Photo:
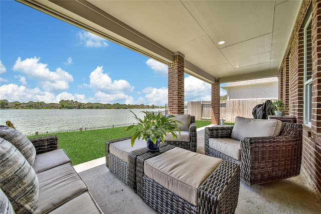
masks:
<svg viewBox="0 0 321 214"><path fill-rule="evenodd" d="M174 139L174 140L165 140L165 143L196 152L197 131L196 131L196 124L195 124L195 116L192 116L192 115L191 115L191 123L189 126L189 135L190 135L190 142L179 141L177 139L176 140Z"/></svg>

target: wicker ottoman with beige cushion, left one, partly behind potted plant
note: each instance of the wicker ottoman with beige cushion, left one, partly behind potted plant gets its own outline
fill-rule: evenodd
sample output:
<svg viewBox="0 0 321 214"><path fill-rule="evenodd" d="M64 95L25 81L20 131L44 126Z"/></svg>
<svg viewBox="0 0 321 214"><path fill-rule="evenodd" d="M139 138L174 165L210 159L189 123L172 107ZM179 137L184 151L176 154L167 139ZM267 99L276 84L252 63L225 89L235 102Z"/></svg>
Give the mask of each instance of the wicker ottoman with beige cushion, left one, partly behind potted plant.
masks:
<svg viewBox="0 0 321 214"><path fill-rule="evenodd" d="M160 147L167 144L161 143ZM136 191L136 157L147 153L146 141L136 140L133 147L130 137L106 141L106 166L108 169Z"/></svg>

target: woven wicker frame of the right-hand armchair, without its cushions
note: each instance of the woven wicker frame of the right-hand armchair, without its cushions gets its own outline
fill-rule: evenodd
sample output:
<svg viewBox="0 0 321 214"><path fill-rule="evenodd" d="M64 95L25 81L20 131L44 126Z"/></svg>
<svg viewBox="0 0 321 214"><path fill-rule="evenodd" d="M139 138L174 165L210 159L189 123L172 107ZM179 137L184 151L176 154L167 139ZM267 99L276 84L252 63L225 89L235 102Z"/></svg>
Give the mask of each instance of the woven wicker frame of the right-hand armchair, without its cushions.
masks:
<svg viewBox="0 0 321 214"><path fill-rule="evenodd" d="M297 176L302 157L302 125L282 123L275 137L245 137L240 141L241 158L236 160L209 146L210 138L231 138L233 126L205 128L205 154L240 164L241 179L259 184Z"/></svg>

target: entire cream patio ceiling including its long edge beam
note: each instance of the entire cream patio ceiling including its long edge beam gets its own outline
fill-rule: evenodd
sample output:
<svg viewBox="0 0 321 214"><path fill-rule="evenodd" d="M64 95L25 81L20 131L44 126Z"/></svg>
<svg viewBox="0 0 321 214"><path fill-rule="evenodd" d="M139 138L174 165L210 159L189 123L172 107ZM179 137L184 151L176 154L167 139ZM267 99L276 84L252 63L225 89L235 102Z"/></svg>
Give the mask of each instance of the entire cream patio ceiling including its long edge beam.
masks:
<svg viewBox="0 0 321 214"><path fill-rule="evenodd" d="M277 76L301 1L22 1L209 83ZM218 45L225 40L226 43ZM239 67L237 67L239 65Z"/></svg>

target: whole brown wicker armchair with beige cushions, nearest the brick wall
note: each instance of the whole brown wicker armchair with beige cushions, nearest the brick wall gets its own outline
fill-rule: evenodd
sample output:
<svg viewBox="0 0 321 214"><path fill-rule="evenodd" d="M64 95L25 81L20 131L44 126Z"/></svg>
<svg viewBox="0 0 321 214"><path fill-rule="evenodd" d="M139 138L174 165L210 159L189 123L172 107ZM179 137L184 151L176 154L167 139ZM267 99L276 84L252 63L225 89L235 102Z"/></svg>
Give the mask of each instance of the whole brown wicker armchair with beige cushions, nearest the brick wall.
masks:
<svg viewBox="0 0 321 214"><path fill-rule="evenodd" d="M297 176L302 125L237 117L234 126L205 129L205 154L240 164L241 179L250 185Z"/></svg>

